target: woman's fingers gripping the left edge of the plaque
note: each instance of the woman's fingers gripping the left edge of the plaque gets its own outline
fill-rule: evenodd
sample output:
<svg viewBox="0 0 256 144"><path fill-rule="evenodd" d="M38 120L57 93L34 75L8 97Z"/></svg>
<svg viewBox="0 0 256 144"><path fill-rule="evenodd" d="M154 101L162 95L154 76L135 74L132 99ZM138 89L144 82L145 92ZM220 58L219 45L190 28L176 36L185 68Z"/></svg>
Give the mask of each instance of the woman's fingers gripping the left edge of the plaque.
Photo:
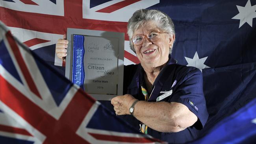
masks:
<svg viewBox="0 0 256 144"><path fill-rule="evenodd" d="M56 48L55 48L55 52L57 56L63 61L66 61L65 57L67 56L67 47L68 47L67 44L69 43L69 41L66 40L66 38L67 38L67 35L64 34L63 39L58 39Z"/></svg>

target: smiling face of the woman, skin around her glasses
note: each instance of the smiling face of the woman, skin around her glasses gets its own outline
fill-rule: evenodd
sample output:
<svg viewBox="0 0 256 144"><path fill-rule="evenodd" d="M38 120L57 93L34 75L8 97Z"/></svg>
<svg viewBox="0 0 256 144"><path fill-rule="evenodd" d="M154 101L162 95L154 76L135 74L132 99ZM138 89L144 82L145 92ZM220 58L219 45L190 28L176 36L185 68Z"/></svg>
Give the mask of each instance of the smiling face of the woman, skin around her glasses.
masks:
<svg viewBox="0 0 256 144"><path fill-rule="evenodd" d="M135 30L134 35L148 35L152 30L160 31L160 29L156 27L155 21L147 22L145 27ZM151 42L145 37L142 44L134 45L135 52L141 65L157 67L165 64L169 59L169 48L171 44L173 44L174 38L174 35L171 37L168 33L161 33L158 41Z"/></svg>

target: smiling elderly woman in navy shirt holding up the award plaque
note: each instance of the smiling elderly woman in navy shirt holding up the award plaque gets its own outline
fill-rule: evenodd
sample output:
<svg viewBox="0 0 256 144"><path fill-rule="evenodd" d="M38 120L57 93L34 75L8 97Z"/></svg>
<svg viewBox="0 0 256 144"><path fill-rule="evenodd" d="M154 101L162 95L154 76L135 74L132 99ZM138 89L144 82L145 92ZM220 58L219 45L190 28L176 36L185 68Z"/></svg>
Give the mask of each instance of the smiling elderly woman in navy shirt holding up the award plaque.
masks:
<svg viewBox="0 0 256 144"><path fill-rule="evenodd" d="M142 133L170 143L197 138L208 118L202 73L177 65L171 18L158 10L135 11L128 22L130 46L140 61L124 68L124 94L111 100L114 111ZM61 44L61 42L63 44ZM65 41L56 52L66 56Z"/></svg>

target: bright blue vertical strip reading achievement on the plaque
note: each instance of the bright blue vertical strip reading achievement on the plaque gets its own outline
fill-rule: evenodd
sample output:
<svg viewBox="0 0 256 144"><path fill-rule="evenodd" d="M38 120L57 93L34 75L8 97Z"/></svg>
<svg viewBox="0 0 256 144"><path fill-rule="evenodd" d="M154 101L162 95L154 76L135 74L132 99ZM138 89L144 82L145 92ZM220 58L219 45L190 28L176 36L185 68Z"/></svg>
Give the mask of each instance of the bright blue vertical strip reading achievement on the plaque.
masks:
<svg viewBox="0 0 256 144"><path fill-rule="evenodd" d="M85 79L83 55L84 55L83 35L73 35L73 66L72 82L83 89ZM84 89L83 89L84 90Z"/></svg>

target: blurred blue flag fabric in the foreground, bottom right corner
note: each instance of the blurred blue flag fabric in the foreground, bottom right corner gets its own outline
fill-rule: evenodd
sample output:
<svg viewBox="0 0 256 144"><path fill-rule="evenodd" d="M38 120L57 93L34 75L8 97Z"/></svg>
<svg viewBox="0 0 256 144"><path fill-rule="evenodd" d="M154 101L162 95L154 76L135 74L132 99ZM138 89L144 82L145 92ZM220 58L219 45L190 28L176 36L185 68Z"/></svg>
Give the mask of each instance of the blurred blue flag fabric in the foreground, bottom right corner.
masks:
<svg viewBox="0 0 256 144"><path fill-rule="evenodd" d="M256 98L191 144L255 144Z"/></svg>

